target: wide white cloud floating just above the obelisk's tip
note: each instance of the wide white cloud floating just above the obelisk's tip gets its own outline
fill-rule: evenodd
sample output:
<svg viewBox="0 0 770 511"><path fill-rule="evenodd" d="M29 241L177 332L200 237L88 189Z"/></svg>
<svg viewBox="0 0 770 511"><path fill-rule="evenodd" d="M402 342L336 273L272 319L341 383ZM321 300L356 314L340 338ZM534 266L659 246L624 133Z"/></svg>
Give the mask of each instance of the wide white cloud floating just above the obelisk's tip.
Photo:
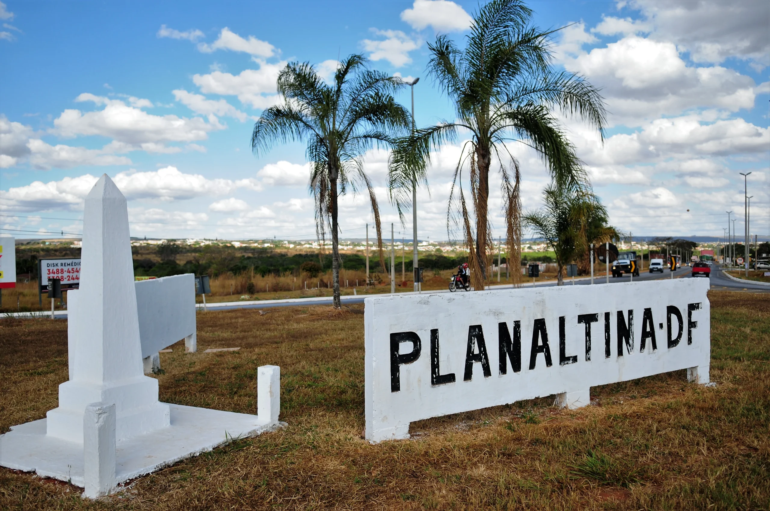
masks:
<svg viewBox="0 0 770 511"><path fill-rule="evenodd" d="M208 132L223 126L208 123L199 117L187 119L176 115L151 115L118 99L81 94L78 101L105 105L103 110L81 112L66 109L54 120L55 135L101 135L148 152L178 152L166 142L196 142L208 138Z"/></svg>

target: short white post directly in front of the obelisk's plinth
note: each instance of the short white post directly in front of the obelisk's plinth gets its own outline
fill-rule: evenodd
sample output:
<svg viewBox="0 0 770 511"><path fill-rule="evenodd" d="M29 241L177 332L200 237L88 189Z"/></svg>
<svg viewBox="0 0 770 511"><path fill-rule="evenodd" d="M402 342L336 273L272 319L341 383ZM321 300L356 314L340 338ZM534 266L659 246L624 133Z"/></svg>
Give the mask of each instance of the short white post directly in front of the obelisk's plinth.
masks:
<svg viewBox="0 0 770 511"><path fill-rule="evenodd" d="M83 468L89 499L115 489L115 405L92 402L83 415Z"/></svg>

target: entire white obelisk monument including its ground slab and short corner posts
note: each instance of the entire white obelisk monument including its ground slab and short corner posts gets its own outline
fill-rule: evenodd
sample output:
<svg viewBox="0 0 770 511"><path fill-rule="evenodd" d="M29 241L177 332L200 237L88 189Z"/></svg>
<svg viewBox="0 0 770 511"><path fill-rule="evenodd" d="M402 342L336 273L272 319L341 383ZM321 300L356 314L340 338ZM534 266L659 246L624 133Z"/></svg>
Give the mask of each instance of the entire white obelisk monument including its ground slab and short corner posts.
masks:
<svg viewBox="0 0 770 511"><path fill-rule="evenodd" d="M126 198L107 175L85 199L83 224L80 289L68 296L69 381L45 419L0 435L0 465L98 497L180 459L285 426L278 366L257 368L258 415L159 402L158 380L142 368ZM189 306L194 311L195 302Z"/></svg>

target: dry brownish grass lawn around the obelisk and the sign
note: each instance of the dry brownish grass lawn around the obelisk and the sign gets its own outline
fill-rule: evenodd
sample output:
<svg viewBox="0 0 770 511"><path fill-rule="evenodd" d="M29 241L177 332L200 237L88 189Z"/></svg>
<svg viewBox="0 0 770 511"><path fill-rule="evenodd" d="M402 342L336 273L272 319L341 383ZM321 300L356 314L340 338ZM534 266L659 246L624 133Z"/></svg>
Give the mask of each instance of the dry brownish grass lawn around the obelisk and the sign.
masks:
<svg viewBox="0 0 770 511"><path fill-rule="evenodd" d="M100 501L0 469L0 509L768 509L770 295L711 292L713 388L682 372L363 430L360 307L200 313L199 349L162 354L161 399L254 412L256 367L282 372L289 427L242 440ZM0 431L39 419L66 379L66 324L0 322ZM209 347L239 352L203 354Z"/></svg>

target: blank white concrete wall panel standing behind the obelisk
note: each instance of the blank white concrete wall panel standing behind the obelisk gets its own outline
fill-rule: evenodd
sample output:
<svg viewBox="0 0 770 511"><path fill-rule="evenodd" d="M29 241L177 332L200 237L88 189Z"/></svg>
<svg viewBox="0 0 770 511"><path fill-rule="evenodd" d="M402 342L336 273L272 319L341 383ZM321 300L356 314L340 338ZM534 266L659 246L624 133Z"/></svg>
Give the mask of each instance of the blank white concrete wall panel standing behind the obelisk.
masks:
<svg viewBox="0 0 770 511"><path fill-rule="evenodd" d="M192 273L135 282L142 359L196 333Z"/></svg>

